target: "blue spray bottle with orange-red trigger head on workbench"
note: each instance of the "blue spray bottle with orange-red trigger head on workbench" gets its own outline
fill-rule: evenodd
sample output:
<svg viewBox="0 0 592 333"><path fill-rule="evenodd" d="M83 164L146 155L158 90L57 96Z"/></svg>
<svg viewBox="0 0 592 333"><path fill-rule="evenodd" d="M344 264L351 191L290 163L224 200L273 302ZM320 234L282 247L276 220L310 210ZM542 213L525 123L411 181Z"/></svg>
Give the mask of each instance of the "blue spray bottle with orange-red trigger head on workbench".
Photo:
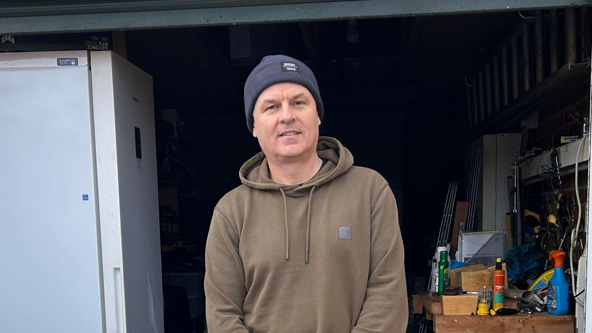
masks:
<svg viewBox="0 0 592 333"><path fill-rule="evenodd" d="M567 298L570 296L570 284L565 280L563 274L563 258L565 252L551 251L549 260L555 261L553 277L549 280L549 291L547 293L547 312L551 315L567 315L570 303Z"/></svg>

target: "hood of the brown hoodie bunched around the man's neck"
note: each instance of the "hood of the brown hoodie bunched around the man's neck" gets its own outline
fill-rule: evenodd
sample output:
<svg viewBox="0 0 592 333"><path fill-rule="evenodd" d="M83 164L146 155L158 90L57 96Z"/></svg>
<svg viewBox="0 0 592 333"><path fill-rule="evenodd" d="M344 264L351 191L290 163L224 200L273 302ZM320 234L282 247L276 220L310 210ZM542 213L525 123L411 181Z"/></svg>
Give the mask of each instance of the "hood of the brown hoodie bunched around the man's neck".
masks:
<svg viewBox="0 0 592 333"><path fill-rule="evenodd" d="M348 171L353 165L353 156L337 139L320 136L317 143L318 157L327 160L327 164L311 180L303 185L281 185L269 178L268 162L263 152L244 162L240 168L240 181L258 190L283 191L287 196L300 196L309 193L311 188L325 184Z"/></svg>

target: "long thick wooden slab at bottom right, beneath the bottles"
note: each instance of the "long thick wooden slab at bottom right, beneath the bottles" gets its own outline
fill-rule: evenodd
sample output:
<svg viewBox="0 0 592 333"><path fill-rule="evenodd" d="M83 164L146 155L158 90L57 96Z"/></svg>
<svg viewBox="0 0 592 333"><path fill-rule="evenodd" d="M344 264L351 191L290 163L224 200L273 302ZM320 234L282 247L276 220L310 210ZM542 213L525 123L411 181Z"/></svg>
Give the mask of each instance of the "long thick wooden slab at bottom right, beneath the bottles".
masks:
<svg viewBox="0 0 592 333"><path fill-rule="evenodd" d="M573 333L574 318L533 313L531 316L444 316L433 315L436 333Z"/></svg>

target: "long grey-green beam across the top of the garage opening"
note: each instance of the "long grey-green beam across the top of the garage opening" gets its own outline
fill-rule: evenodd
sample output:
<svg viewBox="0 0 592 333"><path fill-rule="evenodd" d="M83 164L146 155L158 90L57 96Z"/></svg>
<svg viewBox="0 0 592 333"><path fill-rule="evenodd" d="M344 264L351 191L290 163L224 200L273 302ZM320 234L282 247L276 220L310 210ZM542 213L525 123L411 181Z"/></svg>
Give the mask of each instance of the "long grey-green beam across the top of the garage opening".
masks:
<svg viewBox="0 0 592 333"><path fill-rule="evenodd" d="M303 1L300 0L299 2ZM250 2L252 1L239 3L250 4ZM482 11L517 11L592 5L592 0L507 0L503 2L491 0L357 0L318 1L300 4L285 4L281 0L269 0L265 1L265 3L266 5L249 5L243 7L189 8L133 12L124 10L119 12L99 11L95 14L21 17L6 17L6 12L0 9L0 16L2 16L0 17L0 34L131 30L195 27L198 25L437 15Z"/></svg>

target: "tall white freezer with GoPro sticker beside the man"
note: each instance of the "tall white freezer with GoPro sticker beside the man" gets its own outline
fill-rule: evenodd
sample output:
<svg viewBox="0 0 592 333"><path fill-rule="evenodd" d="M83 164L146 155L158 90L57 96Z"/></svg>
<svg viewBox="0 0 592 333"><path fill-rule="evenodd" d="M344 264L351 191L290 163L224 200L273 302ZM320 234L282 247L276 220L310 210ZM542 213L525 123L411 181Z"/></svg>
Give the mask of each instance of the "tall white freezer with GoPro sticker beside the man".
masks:
<svg viewBox="0 0 592 333"><path fill-rule="evenodd" d="M0 212L0 331L163 332L152 78L0 53Z"/></svg>

